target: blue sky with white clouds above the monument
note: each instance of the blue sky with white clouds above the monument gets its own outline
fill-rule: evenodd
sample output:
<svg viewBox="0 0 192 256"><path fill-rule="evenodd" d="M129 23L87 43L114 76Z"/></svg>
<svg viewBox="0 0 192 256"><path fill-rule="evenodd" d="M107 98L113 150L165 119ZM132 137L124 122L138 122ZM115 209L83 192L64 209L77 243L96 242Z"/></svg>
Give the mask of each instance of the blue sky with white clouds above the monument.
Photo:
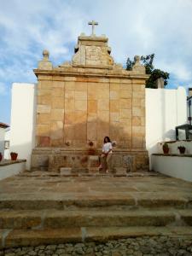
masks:
<svg viewBox="0 0 192 256"><path fill-rule="evenodd" d="M55 66L70 61L90 20L116 62L154 53L154 66L170 73L167 88L192 87L191 0L0 0L0 121L10 121L11 84L36 82L43 49Z"/></svg>

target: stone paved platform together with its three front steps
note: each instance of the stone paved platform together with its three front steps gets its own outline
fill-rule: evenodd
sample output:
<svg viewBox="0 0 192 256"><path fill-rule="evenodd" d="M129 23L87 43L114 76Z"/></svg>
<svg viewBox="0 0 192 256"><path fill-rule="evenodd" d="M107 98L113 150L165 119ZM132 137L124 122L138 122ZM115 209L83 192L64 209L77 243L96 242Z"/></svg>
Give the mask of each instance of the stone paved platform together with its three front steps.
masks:
<svg viewBox="0 0 192 256"><path fill-rule="evenodd" d="M0 230L0 246L191 236L191 202L192 183L157 173L63 177L24 172L0 181L0 228L6 228Z"/></svg>

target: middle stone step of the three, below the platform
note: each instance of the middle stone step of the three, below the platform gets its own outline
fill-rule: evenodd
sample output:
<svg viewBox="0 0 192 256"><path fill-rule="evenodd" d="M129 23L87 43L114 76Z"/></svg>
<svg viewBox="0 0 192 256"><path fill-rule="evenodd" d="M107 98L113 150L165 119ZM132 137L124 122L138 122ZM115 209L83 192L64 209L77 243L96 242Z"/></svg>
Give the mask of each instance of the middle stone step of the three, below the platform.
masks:
<svg viewBox="0 0 192 256"><path fill-rule="evenodd" d="M192 225L190 210L0 211L0 229L60 229L84 226Z"/></svg>

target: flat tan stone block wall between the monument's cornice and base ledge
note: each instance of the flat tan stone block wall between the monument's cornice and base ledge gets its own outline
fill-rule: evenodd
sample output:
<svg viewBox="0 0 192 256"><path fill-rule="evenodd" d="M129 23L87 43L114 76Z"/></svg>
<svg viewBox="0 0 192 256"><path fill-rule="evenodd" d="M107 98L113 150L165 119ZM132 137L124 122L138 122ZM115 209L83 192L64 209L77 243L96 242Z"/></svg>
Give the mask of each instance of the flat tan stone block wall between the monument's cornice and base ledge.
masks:
<svg viewBox="0 0 192 256"><path fill-rule="evenodd" d="M38 75L37 146L145 148L145 80Z"/></svg>

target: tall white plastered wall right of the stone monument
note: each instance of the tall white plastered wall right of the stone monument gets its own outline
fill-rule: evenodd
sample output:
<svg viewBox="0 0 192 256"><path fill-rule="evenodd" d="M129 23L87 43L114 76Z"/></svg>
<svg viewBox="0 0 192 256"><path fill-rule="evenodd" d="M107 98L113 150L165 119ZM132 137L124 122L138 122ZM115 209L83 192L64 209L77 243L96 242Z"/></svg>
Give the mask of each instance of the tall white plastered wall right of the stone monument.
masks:
<svg viewBox="0 0 192 256"><path fill-rule="evenodd" d="M175 90L146 89L146 148L157 153L157 143L175 140L175 127L187 122L187 95L183 87Z"/></svg>

